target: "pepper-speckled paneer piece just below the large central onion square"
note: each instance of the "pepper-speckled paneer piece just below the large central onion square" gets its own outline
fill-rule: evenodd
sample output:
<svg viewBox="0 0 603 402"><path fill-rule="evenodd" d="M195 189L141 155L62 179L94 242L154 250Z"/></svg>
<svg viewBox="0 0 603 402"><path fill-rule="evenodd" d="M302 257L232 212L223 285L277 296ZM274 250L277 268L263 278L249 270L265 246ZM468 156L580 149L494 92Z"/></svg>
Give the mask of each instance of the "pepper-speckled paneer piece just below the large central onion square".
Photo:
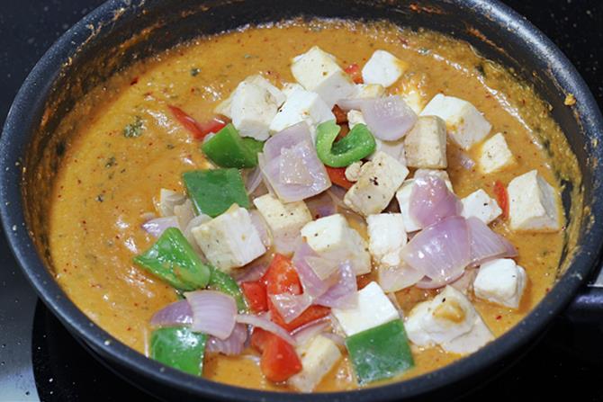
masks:
<svg viewBox="0 0 603 402"><path fill-rule="evenodd" d="M275 240L278 253L289 254L301 236L300 230L312 220L312 216L304 201L284 204L272 194L262 195L253 201Z"/></svg>

